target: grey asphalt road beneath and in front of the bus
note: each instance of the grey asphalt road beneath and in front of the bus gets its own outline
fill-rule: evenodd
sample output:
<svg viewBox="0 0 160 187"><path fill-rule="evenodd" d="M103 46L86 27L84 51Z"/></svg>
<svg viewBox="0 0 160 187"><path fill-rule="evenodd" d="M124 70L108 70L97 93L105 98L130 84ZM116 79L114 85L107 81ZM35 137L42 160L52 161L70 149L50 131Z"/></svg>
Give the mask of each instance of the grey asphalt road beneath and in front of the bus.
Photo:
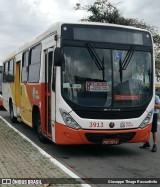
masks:
<svg viewBox="0 0 160 187"><path fill-rule="evenodd" d="M5 110L0 110L0 115L11 123L9 114ZM11 124L81 178L91 178L91 181L95 178L130 178L132 180L160 178L160 138L157 142L158 151L155 153L151 152L151 149L140 149L141 143L112 146L59 146L52 142L40 143L36 133L23 123ZM160 136L160 133L158 134ZM150 142L152 144L152 136ZM106 184L91 184L91 186L106 186Z"/></svg>

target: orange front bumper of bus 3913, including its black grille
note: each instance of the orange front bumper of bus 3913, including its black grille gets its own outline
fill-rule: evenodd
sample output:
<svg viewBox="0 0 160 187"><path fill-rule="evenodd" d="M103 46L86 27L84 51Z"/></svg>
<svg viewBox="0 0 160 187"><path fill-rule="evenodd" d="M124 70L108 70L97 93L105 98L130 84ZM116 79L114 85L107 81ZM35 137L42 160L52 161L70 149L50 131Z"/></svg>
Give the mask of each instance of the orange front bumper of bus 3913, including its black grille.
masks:
<svg viewBox="0 0 160 187"><path fill-rule="evenodd" d="M104 140L118 140L118 143L146 142L150 138L151 124L141 129L88 130L72 129L55 123L55 143L57 144L103 144Z"/></svg>

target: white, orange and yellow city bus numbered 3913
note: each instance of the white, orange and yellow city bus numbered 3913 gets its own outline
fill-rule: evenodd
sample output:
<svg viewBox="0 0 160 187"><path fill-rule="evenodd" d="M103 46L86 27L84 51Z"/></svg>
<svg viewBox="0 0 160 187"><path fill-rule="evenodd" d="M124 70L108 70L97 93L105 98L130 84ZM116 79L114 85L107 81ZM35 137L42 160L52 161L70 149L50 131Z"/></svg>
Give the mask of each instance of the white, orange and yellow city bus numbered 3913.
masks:
<svg viewBox="0 0 160 187"><path fill-rule="evenodd" d="M144 142L154 74L148 31L56 23L3 61L3 105L12 121L37 129L42 142Z"/></svg>

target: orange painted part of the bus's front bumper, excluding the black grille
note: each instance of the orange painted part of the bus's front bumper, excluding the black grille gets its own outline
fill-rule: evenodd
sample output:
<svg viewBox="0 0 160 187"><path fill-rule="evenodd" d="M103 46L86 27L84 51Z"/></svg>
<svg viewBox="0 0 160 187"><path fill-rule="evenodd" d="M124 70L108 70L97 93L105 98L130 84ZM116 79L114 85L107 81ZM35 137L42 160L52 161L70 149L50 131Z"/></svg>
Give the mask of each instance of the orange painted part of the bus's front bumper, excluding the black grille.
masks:
<svg viewBox="0 0 160 187"><path fill-rule="evenodd" d="M150 132L151 132L151 124L147 127L141 129L121 129L121 130L84 130L79 129L75 130L72 128L69 128L65 125L62 125L60 123L55 123L55 143L57 144L94 144L93 142L88 141L85 134L107 134L107 135L113 135L113 134L121 134L121 133L131 133L135 132L135 136L126 143L136 143L136 142L145 142L148 141L150 138Z"/></svg>

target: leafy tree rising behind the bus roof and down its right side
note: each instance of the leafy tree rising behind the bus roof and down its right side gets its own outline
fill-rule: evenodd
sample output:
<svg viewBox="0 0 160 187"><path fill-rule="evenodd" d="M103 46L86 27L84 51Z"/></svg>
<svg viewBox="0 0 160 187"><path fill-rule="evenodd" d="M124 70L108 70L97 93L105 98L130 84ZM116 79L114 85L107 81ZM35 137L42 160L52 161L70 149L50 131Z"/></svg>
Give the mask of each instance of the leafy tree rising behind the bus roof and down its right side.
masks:
<svg viewBox="0 0 160 187"><path fill-rule="evenodd" d="M156 77L160 80L160 35L155 26L147 25L143 20L123 17L116 5L111 4L108 0L96 0L92 5L85 6L77 3L74 9L85 10L90 13L88 17L82 18L81 21L113 23L149 30L153 35L155 44Z"/></svg>

